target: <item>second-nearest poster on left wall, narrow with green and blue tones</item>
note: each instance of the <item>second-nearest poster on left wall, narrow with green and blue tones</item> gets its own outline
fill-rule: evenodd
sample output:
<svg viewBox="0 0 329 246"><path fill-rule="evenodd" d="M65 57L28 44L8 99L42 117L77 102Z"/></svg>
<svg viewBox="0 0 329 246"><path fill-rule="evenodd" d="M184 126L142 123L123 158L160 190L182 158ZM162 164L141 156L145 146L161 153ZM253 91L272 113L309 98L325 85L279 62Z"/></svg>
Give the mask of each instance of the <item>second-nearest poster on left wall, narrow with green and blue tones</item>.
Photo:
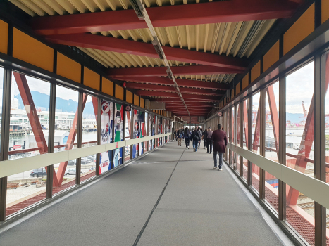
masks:
<svg viewBox="0 0 329 246"><path fill-rule="evenodd" d="M116 103L114 108L114 142L123 141L123 105ZM113 167L123 163L123 148L114 150Z"/></svg>

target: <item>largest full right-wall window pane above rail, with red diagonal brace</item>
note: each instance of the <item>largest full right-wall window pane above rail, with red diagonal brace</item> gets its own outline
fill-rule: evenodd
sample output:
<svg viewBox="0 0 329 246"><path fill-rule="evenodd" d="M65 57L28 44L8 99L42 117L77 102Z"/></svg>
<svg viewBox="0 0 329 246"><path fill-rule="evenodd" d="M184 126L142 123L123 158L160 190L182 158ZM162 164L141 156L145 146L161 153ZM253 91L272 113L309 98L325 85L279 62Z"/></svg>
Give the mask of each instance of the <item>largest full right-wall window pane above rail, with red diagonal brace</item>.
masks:
<svg viewBox="0 0 329 246"><path fill-rule="evenodd" d="M288 75L286 89L286 164L292 169L313 176L314 118L311 116L314 115L312 108L314 105L312 102L314 100L314 62ZM297 192L294 193L297 194Z"/></svg>

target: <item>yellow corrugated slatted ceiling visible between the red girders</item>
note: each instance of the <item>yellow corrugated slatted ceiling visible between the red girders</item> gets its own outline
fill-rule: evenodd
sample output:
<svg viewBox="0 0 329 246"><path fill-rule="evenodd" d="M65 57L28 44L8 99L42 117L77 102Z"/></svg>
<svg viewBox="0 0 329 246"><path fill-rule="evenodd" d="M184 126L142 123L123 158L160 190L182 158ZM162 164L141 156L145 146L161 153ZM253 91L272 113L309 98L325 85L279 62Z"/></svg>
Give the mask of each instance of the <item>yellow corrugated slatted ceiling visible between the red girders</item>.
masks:
<svg viewBox="0 0 329 246"><path fill-rule="evenodd" d="M66 15L95 11L117 11L132 8L129 0L9 0L18 8L32 16ZM211 0L209 0L211 1ZM143 0L147 7L194 4L199 0ZM163 46L187 48L192 51L216 53L223 56L248 58L275 20L247 22L212 23L204 25L186 25L177 27L156 27ZM247 35L256 26L249 43ZM97 34L97 33L94 33ZM135 41L151 42L152 36L147 28L136 30L118 30L101 32L104 36ZM105 67L158 67L160 59L128 55L92 48L80 48ZM176 60L169 60L171 66L191 65ZM206 80L211 82L230 82L234 75L186 75L185 79Z"/></svg>

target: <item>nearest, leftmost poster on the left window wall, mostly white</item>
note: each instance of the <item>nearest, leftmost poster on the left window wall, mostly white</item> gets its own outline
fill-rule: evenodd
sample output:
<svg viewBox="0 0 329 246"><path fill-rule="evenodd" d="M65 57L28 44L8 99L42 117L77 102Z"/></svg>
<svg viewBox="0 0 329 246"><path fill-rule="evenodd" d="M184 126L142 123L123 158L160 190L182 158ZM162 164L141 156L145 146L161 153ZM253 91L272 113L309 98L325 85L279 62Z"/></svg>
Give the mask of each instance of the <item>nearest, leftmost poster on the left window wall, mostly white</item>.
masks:
<svg viewBox="0 0 329 246"><path fill-rule="evenodd" d="M101 101L101 144L111 143L113 131L113 103ZM112 150L101 153L99 174L112 168Z"/></svg>

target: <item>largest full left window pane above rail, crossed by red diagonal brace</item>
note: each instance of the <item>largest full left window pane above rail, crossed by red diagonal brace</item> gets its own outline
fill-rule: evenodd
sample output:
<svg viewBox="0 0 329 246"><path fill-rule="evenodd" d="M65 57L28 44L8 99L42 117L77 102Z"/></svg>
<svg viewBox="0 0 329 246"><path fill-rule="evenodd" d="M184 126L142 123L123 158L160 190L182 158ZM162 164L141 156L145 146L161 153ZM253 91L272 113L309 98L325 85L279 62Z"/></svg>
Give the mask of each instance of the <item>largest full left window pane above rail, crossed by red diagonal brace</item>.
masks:
<svg viewBox="0 0 329 246"><path fill-rule="evenodd" d="M49 100L49 82L12 73L9 160L48 153Z"/></svg>

